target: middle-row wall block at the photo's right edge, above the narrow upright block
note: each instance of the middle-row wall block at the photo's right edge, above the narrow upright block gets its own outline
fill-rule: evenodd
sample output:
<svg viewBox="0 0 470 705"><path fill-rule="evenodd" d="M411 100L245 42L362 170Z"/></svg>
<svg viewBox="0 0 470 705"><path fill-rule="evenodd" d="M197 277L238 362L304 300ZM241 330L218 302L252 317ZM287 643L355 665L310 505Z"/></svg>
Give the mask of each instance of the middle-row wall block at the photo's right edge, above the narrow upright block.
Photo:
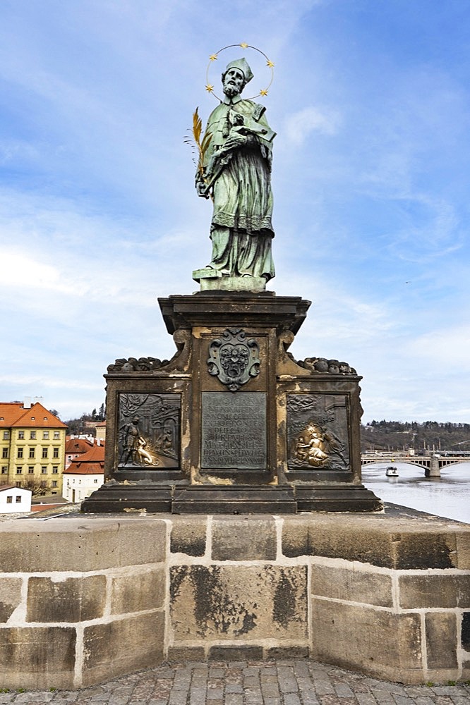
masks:
<svg viewBox="0 0 470 705"><path fill-rule="evenodd" d="M470 575L401 575L399 602L405 609L470 608Z"/></svg>

